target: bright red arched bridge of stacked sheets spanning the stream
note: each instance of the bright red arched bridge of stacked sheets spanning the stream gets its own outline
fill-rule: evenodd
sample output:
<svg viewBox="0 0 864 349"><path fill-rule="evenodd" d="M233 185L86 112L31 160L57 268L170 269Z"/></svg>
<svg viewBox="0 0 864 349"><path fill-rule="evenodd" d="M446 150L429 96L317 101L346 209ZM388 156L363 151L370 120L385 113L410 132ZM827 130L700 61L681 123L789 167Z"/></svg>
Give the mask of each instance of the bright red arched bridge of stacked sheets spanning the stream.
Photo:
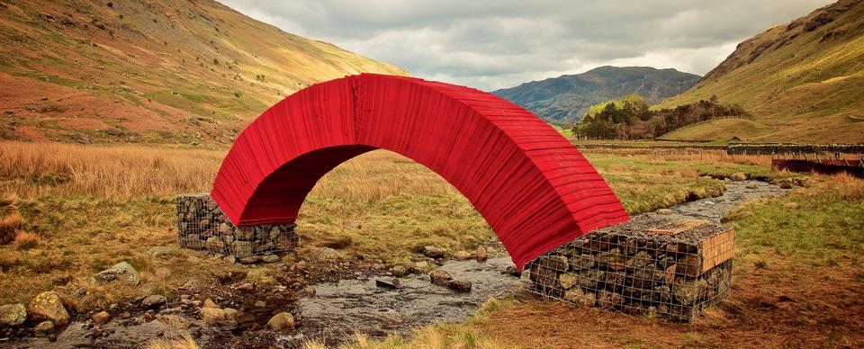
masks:
<svg viewBox="0 0 864 349"><path fill-rule="evenodd" d="M264 112L222 162L211 196L238 226L291 223L322 175L377 148L453 184L520 269L628 219L588 160L534 114L473 88L373 74L312 85Z"/></svg>

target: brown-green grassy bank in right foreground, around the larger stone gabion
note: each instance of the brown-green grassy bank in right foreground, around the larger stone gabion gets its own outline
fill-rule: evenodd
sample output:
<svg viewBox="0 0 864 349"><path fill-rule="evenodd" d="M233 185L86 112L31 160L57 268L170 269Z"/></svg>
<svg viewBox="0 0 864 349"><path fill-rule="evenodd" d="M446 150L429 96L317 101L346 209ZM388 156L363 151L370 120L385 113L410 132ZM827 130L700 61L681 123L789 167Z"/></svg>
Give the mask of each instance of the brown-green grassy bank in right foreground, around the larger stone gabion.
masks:
<svg viewBox="0 0 864 349"><path fill-rule="evenodd" d="M410 340L356 336L346 347L860 347L864 181L816 176L813 183L725 217L737 231L733 291L691 324L490 300L473 318L419 328Z"/></svg>

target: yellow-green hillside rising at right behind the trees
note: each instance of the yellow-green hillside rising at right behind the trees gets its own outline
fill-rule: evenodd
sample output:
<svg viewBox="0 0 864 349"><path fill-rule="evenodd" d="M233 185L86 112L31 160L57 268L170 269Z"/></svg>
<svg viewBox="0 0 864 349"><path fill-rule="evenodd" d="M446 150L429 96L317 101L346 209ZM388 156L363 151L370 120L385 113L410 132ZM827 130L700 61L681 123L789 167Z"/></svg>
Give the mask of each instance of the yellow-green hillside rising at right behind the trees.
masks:
<svg viewBox="0 0 864 349"><path fill-rule="evenodd" d="M654 108L712 94L774 129L752 140L864 142L864 2L840 1L744 40L696 86Z"/></svg>

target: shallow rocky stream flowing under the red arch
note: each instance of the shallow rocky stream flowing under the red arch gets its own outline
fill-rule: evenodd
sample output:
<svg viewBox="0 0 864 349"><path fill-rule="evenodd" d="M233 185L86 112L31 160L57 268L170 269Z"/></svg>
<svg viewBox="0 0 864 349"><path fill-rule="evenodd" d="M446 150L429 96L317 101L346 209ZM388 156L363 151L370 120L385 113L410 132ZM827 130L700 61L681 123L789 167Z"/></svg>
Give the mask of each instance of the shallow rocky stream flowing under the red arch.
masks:
<svg viewBox="0 0 864 349"><path fill-rule="evenodd" d="M777 185L759 181L726 183L718 197L690 201L639 216L653 215L672 219L708 219L719 223L734 206L757 198L770 198L788 192ZM638 216L635 216L636 218ZM497 240L496 240L497 242ZM451 291L429 282L428 274L412 274L400 279L401 289L377 287L375 278L342 280L315 286L316 296L299 301L303 335L336 345L356 331L381 338L388 333L403 337L411 329L437 322L459 322L470 317L490 297L515 295L524 282L501 273L513 265L503 246L493 246L498 255L485 263L474 260L447 261L441 268L455 280L472 282L471 292ZM527 278L526 278L527 279Z"/></svg>

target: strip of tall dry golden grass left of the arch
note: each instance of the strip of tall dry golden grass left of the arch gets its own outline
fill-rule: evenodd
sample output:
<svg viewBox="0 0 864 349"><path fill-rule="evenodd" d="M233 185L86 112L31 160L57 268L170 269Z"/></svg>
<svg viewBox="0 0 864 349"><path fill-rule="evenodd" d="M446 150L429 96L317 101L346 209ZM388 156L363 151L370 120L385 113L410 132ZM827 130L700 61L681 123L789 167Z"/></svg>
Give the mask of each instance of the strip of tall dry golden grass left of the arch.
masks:
<svg viewBox="0 0 864 349"><path fill-rule="evenodd" d="M223 151L0 142L0 190L112 197L207 192Z"/></svg>

